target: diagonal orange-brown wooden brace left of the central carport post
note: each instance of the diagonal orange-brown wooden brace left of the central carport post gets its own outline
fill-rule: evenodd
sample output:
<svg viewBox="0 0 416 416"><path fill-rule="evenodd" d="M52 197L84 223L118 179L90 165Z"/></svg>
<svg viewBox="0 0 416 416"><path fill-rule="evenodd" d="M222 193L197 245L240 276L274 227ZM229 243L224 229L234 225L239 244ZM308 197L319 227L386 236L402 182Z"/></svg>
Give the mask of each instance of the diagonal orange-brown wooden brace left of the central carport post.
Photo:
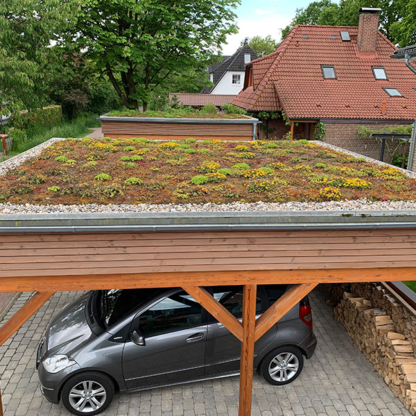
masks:
<svg viewBox="0 0 416 416"><path fill-rule="evenodd" d="M189 293L203 308L207 309L218 322L224 325L234 336L243 340L243 325L225 307L214 299L204 288L198 286L184 286L184 291Z"/></svg>

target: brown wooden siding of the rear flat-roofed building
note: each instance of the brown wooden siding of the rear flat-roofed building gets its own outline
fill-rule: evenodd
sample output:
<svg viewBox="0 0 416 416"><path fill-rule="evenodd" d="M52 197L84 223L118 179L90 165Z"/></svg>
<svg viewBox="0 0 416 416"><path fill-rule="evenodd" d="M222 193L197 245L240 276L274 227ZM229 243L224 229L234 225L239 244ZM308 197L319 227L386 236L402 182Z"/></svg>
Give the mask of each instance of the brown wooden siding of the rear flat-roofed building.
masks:
<svg viewBox="0 0 416 416"><path fill-rule="evenodd" d="M101 121L104 137L146 137L148 139L214 139L252 140L252 124L231 123L146 123L134 121Z"/></svg>

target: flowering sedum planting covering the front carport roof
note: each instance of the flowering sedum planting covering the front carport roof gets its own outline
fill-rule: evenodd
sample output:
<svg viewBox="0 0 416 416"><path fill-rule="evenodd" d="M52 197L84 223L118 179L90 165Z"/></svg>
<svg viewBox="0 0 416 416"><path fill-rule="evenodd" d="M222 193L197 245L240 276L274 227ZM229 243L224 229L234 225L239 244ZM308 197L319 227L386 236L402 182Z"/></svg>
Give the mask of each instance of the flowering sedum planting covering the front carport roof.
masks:
<svg viewBox="0 0 416 416"><path fill-rule="evenodd" d="M396 168L309 141L67 139L9 171L0 202L416 200Z"/></svg>

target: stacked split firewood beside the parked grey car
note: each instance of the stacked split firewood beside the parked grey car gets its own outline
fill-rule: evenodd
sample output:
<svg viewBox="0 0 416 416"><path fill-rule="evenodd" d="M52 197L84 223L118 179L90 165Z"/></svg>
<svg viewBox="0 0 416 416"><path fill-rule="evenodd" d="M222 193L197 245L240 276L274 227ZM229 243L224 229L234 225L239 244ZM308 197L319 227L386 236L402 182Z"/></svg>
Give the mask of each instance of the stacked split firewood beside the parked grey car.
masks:
<svg viewBox="0 0 416 416"><path fill-rule="evenodd" d="M416 317L379 284L329 284L334 310L361 352L416 415Z"/></svg>

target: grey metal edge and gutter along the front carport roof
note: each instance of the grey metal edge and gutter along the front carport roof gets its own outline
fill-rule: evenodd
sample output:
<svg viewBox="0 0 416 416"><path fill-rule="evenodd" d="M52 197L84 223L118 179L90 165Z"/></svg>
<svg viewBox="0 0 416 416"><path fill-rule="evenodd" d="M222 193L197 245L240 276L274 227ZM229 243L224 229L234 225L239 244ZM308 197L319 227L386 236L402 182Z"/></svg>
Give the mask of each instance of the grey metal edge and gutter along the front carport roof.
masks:
<svg viewBox="0 0 416 416"><path fill-rule="evenodd" d="M0 233L416 228L416 211L0 214Z"/></svg>

